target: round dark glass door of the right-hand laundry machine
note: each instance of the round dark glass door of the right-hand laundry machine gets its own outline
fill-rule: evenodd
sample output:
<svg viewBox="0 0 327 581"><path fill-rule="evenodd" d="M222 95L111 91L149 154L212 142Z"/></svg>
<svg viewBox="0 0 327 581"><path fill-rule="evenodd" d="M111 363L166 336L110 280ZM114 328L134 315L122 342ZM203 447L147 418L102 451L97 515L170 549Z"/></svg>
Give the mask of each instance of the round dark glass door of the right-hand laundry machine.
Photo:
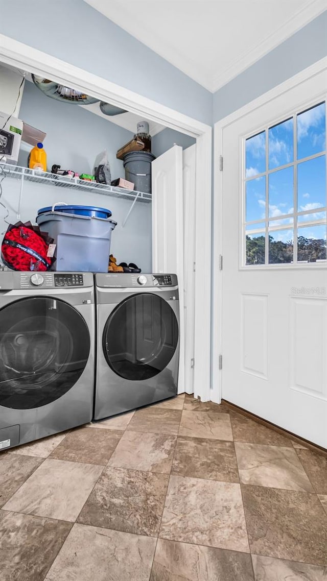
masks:
<svg viewBox="0 0 327 581"><path fill-rule="evenodd" d="M122 301L106 321L102 347L109 367L131 381L158 375L178 344L176 315L158 295L140 293Z"/></svg>

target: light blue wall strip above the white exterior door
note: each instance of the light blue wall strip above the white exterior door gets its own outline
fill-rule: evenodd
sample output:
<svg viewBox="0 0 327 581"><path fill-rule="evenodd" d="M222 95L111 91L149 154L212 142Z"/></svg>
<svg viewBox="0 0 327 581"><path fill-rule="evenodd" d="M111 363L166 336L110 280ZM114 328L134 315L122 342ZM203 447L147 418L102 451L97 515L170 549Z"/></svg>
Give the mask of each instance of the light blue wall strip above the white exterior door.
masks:
<svg viewBox="0 0 327 581"><path fill-rule="evenodd" d="M327 10L214 94L214 123L327 55Z"/></svg>

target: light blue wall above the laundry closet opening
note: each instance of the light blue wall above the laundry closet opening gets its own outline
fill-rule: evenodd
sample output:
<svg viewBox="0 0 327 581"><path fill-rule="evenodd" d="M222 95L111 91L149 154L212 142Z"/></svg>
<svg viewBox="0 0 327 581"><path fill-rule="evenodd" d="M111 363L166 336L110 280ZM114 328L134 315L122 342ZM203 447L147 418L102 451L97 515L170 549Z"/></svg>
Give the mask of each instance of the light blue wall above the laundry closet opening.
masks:
<svg viewBox="0 0 327 581"><path fill-rule="evenodd" d="M83 0L0 0L0 32L212 123L209 91Z"/></svg>

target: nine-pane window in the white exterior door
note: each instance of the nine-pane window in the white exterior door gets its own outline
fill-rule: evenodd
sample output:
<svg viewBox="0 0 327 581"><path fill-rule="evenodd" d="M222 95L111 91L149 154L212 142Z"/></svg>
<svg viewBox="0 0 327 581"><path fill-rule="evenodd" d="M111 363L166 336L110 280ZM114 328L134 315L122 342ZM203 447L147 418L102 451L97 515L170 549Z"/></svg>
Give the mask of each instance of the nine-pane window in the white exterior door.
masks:
<svg viewBox="0 0 327 581"><path fill-rule="evenodd" d="M325 261L325 102L244 145L243 265Z"/></svg>

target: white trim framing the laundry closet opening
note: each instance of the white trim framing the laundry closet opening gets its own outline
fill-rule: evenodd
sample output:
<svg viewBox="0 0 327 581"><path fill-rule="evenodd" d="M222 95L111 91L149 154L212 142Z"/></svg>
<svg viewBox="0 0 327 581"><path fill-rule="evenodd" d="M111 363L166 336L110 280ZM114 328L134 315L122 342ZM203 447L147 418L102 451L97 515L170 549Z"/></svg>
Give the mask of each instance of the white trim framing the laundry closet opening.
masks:
<svg viewBox="0 0 327 581"><path fill-rule="evenodd" d="M48 76L196 138L196 297L194 395L210 399L211 378L211 141L212 127L45 52L0 35L0 63ZM201 241L201 243L200 243ZM205 275L204 275L205 273Z"/></svg>

